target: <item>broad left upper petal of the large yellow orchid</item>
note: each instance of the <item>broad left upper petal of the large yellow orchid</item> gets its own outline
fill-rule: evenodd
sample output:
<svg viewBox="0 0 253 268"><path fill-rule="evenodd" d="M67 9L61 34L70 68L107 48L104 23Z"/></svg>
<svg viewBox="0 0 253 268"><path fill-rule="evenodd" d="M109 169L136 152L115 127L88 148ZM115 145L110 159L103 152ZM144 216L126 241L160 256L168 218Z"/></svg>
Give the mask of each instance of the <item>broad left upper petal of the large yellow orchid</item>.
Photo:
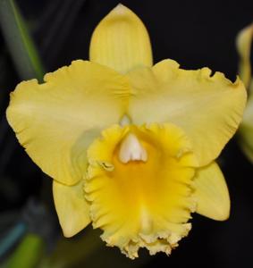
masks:
<svg viewBox="0 0 253 268"><path fill-rule="evenodd" d="M120 74L84 61L47 73L45 81L21 82L7 119L43 172L72 185L83 176L90 142L125 113L129 89Z"/></svg>

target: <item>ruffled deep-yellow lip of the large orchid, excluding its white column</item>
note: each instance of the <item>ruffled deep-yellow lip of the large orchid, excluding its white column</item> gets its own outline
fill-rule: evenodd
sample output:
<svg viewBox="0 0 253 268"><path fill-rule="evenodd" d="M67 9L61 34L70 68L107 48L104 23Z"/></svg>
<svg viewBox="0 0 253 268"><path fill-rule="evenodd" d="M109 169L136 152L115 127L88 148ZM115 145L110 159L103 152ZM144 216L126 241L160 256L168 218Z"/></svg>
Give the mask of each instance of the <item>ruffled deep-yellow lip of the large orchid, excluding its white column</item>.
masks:
<svg viewBox="0 0 253 268"><path fill-rule="evenodd" d="M122 163L124 138L133 133L148 155L146 161ZM188 138L173 124L114 127L88 151L86 197L95 228L104 230L108 246L131 258L139 247L166 254L190 230L191 179L198 165Z"/></svg>

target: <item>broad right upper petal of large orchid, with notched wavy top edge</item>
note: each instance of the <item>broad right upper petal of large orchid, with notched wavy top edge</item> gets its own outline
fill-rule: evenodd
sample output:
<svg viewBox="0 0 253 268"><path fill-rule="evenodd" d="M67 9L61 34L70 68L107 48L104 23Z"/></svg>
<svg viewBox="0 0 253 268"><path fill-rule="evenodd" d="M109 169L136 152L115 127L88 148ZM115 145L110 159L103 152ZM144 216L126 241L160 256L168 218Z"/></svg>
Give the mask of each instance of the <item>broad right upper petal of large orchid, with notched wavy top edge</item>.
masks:
<svg viewBox="0 0 253 268"><path fill-rule="evenodd" d="M239 79L232 83L220 72L210 75L207 68L179 69L172 60L131 71L133 123L173 122L190 138L199 163L210 163L237 130L246 102Z"/></svg>

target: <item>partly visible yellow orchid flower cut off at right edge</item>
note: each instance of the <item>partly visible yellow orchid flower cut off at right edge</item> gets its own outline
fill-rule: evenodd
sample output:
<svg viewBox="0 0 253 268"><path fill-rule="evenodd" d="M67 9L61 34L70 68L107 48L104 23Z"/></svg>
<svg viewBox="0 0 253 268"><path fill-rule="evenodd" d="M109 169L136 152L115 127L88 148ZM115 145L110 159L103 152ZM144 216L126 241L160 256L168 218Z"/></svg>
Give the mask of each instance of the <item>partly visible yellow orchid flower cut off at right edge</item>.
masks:
<svg viewBox="0 0 253 268"><path fill-rule="evenodd" d="M253 79L251 75L250 51L253 39L253 23L241 29L236 45L240 55L239 73L241 80L249 91L248 104L240 125L240 147L249 161L253 163Z"/></svg>

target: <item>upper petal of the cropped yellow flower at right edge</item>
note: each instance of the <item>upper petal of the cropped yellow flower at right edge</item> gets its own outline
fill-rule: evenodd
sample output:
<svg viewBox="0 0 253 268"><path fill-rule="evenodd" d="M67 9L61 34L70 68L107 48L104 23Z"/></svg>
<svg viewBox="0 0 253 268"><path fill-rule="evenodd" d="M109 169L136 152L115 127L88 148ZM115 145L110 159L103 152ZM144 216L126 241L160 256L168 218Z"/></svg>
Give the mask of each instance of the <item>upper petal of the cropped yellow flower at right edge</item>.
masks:
<svg viewBox="0 0 253 268"><path fill-rule="evenodd" d="M251 80L250 50L253 38L253 23L241 29L236 38L236 45L240 55L239 74L246 88Z"/></svg>

